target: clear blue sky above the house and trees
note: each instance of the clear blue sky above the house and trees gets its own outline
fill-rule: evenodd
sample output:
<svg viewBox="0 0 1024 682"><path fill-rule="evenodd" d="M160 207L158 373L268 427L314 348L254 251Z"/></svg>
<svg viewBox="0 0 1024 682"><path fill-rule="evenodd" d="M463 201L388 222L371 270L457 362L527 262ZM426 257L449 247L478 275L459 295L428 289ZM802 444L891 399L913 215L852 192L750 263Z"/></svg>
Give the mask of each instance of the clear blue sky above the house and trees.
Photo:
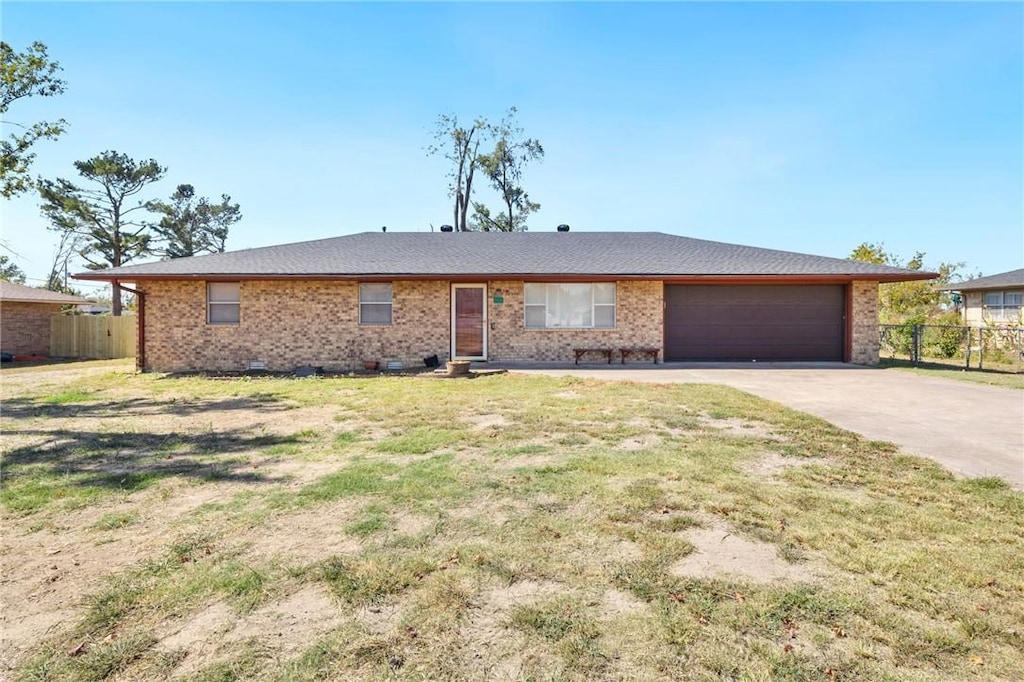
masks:
<svg viewBox="0 0 1024 682"><path fill-rule="evenodd" d="M68 91L34 172L105 150L231 195L228 249L452 221L437 116L519 110L547 156L531 230L660 230L845 257L884 243L991 274L1024 263L1020 3L18 3ZM9 132L5 126L5 132ZM481 185L482 183L478 183ZM474 199L496 204L483 189ZM3 239L37 283L33 196ZM81 268L79 268L81 269ZM90 286L82 284L83 290Z"/></svg>

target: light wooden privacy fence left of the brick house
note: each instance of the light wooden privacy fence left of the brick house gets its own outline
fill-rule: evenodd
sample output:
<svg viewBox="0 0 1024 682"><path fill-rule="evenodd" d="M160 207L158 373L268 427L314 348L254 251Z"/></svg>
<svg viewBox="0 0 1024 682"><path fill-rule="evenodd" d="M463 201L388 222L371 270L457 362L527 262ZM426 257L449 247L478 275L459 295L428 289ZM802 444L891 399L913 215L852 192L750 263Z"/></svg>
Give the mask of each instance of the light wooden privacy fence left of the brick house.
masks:
<svg viewBox="0 0 1024 682"><path fill-rule="evenodd" d="M138 345L135 315L53 315L50 356L134 357Z"/></svg>

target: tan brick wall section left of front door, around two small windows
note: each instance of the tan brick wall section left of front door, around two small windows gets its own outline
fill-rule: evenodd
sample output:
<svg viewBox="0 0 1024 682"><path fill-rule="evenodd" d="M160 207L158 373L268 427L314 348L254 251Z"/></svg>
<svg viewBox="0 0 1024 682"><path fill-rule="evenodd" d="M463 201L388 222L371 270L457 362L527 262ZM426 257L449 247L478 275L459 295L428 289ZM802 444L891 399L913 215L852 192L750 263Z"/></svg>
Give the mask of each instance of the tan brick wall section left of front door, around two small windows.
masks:
<svg viewBox="0 0 1024 682"><path fill-rule="evenodd" d="M413 367L447 353L446 282L394 282L391 325L358 324L352 282L243 282L238 325L207 324L204 282L148 282L142 290L147 370L244 370L252 360L268 370L345 370L364 359Z"/></svg>

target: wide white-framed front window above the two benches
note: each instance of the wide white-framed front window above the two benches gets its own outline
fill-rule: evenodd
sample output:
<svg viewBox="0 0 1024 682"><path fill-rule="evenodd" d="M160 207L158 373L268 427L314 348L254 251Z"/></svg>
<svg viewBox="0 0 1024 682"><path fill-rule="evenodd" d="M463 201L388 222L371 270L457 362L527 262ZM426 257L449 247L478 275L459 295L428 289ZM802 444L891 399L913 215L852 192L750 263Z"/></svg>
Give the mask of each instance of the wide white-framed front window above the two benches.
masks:
<svg viewBox="0 0 1024 682"><path fill-rule="evenodd" d="M527 329L611 329L615 326L615 285L524 285Z"/></svg>

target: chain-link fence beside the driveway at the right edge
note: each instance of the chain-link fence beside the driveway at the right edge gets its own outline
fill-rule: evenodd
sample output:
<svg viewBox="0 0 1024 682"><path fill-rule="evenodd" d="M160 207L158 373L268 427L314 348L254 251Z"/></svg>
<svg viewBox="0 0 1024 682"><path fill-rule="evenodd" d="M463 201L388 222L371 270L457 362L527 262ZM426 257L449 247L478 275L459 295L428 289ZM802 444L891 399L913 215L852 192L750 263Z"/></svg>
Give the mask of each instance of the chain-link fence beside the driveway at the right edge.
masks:
<svg viewBox="0 0 1024 682"><path fill-rule="evenodd" d="M1024 327L882 325L880 351L912 363L1024 371Z"/></svg>

